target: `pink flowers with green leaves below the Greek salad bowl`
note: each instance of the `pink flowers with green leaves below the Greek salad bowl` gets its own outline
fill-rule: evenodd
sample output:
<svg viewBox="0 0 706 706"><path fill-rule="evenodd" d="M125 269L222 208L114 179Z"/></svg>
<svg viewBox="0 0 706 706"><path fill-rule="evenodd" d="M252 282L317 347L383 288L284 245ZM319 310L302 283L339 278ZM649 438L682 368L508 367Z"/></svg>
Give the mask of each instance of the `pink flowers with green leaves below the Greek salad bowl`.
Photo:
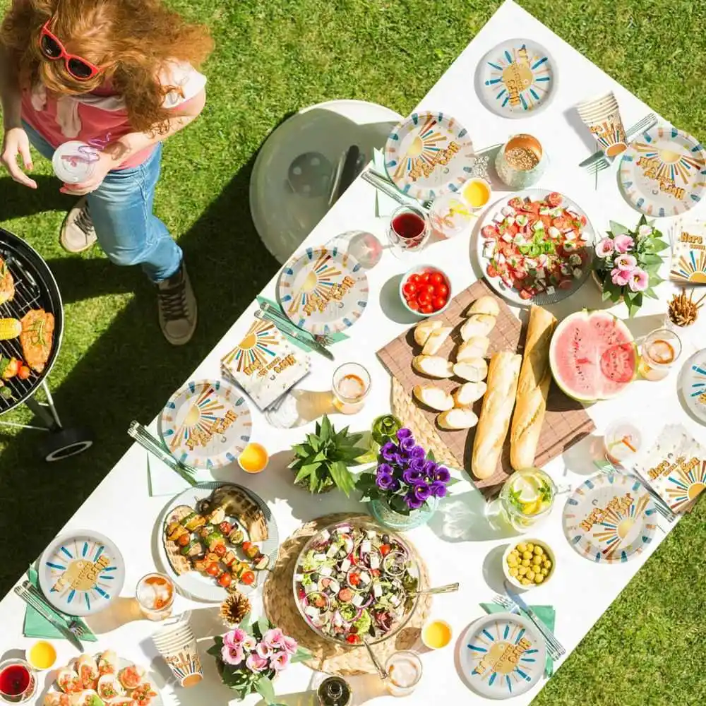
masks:
<svg viewBox="0 0 706 706"><path fill-rule="evenodd" d="M208 654L215 657L225 686L240 700L256 691L267 704L275 703L275 676L289 664L311 657L297 640L273 627L264 616L251 625L250 615L222 637L214 638Z"/></svg>

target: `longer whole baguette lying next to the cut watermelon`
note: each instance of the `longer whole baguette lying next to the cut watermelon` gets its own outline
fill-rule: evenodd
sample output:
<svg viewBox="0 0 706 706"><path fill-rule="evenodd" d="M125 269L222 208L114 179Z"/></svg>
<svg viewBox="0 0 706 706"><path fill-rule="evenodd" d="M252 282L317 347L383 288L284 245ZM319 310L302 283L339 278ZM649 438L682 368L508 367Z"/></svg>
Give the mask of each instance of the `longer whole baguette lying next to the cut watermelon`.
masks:
<svg viewBox="0 0 706 706"><path fill-rule="evenodd" d="M555 327L556 318L549 311L532 306L510 431L510 465L516 471L534 465L551 385L549 343Z"/></svg>

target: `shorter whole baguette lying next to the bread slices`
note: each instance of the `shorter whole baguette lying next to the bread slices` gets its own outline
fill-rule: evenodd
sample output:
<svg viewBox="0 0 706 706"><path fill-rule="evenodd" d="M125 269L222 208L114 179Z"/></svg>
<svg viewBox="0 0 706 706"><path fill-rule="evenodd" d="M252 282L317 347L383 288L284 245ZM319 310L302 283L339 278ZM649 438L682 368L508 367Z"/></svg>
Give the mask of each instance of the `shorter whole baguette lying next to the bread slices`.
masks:
<svg viewBox="0 0 706 706"><path fill-rule="evenodd" d="M501 351L491 358L488 390L483 397L471 458L471 469L478 479L491 477L498 466L515 406L521 364L522 356L510 351Z"/></svg>

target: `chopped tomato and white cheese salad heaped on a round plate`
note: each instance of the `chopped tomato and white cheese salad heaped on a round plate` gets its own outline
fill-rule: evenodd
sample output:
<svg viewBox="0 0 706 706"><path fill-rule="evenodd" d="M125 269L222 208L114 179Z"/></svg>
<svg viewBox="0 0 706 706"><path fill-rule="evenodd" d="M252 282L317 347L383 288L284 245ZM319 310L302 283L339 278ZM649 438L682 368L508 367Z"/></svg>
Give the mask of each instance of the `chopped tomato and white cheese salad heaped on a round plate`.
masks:
<svg viewBox="0 0 706 706"><path fill-rule="evenodd" d="M521 299L571 289L590 267L585 215L562 205L556 191L541 199L510 198L481 229L486 275L500 277Z"/></svg>

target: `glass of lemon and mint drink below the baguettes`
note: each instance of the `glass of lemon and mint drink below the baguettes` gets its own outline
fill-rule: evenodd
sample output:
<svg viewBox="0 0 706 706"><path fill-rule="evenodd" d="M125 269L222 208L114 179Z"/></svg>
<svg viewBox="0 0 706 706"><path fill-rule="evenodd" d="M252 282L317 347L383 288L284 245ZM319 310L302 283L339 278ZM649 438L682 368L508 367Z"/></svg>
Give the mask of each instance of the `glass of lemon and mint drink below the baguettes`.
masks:
<svg viewBox="0 0 706 706"><path fill-rule="evenodd" d="M505 481L500 503L510 525L526 532L549 515L555 496L556 485L541 468L525 468Z"/></svg>

